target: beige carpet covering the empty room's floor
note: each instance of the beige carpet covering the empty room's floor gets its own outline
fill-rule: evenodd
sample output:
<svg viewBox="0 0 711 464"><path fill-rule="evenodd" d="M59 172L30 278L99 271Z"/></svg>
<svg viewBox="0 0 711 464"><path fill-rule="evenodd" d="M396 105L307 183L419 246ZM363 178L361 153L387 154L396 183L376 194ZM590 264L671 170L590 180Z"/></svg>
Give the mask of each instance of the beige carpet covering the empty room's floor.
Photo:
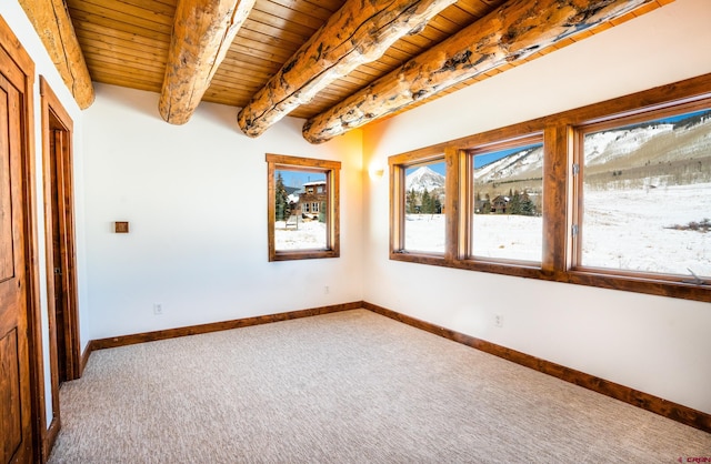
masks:
<svg viewBox="0 0 711 464"><path fill-rule="evenodd" d="M674 463L711 434L364 310L92 353L50 463Z"/></svg>

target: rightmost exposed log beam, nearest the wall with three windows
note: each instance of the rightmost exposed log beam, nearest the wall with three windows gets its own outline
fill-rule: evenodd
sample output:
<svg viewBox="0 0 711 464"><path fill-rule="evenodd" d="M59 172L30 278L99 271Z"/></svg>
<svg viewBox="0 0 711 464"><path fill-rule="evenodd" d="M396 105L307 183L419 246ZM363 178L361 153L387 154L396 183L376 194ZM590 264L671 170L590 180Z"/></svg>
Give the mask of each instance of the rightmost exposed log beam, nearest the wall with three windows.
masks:
<svg viewBox="0 0 711 464"><path fill-rule="evenodd" d="M312 143L324 142L650 1L511 0L310 119L303 137Z"/></svg>

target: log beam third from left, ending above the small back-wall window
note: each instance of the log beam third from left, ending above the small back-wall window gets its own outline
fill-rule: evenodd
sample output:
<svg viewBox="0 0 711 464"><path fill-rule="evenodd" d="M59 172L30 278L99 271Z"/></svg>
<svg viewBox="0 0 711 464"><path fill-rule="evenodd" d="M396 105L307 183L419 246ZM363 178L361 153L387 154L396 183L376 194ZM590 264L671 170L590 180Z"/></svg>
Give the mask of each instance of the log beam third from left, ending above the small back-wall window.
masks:
<svg viewBox="0 0 711 464"><path fill-rule="evenodd" d="M261 135L297 107L363 63L378 60L401 37L418 32L455 0L348 0L240 111L249 137Z"/></svg>

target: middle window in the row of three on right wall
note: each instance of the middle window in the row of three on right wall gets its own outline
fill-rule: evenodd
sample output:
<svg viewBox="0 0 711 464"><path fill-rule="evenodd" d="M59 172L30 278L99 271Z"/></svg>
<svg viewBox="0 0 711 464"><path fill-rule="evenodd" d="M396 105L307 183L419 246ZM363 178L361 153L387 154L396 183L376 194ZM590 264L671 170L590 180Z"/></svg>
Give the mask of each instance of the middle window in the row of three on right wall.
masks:
<svg viewBox="0 0 711 464"><path fill-rule="evenodd" d="M542 137L465 152L470 195L468 259L540 265L543 250Z"/></svg>

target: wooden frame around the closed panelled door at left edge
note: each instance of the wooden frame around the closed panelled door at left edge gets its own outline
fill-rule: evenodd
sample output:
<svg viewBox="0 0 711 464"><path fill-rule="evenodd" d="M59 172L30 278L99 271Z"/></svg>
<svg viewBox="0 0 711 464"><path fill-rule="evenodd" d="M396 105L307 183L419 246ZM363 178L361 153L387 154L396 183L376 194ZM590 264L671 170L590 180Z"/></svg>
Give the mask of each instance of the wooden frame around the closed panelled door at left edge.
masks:
<svg viewBox="0 0 711 464"><path fill-rule="evenodd" d="M44 416L44 367L40 304L39 241L37 235L37 195L34 170L34 62L4 18L0 16L0 48L24 75L22 95L22 194L24 196L27 324L30 359L31 447L34 461L43 461L47 418Z"/></svg>

